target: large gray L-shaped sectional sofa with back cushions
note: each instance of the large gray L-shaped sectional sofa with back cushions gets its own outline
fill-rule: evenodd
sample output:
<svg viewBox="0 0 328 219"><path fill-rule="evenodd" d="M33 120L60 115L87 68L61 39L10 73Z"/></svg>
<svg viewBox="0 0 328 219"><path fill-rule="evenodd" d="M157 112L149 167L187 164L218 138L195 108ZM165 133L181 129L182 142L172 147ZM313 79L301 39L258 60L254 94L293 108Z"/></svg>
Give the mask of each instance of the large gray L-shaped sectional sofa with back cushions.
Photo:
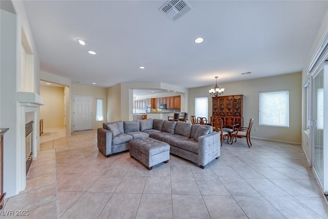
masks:
<svg viewBox="0 0 328 219"><path fill-rule="evenodd" d="M133 139L151 137L168 143L170 153L204 168L220 156L220 134L212 126L149 118L104 123L97 130L97 146L105 156L129 150Z"/></svg>

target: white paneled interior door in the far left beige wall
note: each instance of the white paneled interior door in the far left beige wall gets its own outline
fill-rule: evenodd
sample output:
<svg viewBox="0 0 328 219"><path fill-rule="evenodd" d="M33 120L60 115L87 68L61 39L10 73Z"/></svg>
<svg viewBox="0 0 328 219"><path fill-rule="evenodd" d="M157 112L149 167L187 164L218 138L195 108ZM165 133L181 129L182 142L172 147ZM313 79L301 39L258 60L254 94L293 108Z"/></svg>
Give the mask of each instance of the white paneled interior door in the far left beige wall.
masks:
<svg viewBox="0 0 328 219"><path fill-rule="evenodd" d="M92 129L92 97L74 96L74 131Z"/></svg>

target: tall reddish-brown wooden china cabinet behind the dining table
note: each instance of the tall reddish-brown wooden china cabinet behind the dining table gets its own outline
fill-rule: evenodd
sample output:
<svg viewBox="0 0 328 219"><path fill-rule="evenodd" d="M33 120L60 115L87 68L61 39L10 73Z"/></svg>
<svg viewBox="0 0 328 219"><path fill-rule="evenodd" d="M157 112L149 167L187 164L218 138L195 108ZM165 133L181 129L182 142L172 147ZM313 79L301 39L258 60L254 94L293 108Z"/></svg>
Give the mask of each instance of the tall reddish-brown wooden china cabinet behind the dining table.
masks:
<svg viewBox="0 0 328 219"><path fill-rule="evenodd" d="M212 115L234 116L235 123L242 127L244 119L242 117L242 98L243 94L212 97Z"/></svg>

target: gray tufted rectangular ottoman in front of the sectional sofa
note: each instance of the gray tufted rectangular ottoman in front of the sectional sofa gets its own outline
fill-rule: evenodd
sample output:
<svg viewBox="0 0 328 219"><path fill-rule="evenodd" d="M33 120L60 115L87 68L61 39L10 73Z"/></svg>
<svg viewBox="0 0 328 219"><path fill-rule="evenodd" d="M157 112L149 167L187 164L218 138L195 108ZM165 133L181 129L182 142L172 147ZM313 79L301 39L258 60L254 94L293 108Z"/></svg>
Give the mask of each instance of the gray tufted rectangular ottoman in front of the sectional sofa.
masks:
<svg viewBox="0 0 328 219"><path fill-rule="evenodd" d="M170 145L150 137L130 141L130 156L147 166L148 170L162 162L170 160Z"/></svg>

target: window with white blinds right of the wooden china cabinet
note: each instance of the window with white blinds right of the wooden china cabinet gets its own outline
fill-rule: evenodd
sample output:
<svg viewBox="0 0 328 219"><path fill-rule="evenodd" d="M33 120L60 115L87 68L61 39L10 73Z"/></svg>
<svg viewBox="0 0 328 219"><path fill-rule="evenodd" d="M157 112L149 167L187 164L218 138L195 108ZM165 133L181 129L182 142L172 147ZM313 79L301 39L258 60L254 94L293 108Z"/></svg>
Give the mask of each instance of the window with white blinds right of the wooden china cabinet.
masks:
<svg viewBox="0 0 328 219"><path fill-rule="evenodd" d="M259 94L259 125L289 127L289 90Z"/></svg>

